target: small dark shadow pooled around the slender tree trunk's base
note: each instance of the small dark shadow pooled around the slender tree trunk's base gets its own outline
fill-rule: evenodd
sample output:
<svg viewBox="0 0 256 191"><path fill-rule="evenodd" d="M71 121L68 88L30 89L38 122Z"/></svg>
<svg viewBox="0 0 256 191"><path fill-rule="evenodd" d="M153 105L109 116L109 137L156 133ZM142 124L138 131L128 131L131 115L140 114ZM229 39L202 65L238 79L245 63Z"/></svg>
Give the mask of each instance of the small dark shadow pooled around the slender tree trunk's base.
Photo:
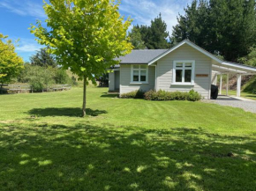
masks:
<svg viewBox="0 0 256 191"><path fill-rule="evenodd" d="M87 115L90 116L98 116L100 114L107 114L105 110L93 110L87 108ZM79 107L47 107L47 108L34 108L28 111L28 114L35 115L35 116L81 116L82 109Z"/></svg>

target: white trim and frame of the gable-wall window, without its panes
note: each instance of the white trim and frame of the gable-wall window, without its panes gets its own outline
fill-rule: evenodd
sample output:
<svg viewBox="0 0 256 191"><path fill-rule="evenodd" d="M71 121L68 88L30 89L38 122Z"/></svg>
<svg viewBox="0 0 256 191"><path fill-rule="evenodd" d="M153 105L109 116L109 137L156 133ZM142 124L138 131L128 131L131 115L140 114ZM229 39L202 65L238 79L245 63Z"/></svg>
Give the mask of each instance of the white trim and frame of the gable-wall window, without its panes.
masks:
<svg viewBox="0 0 256 191"><path fill-rule="evenodd" d="M192 62L192 67L190 68L185 68L185 64L183 64L183 67L182 68L177 68L177 62ZM182 82L176 82L176 70L179 69L179 70L183 70L182 71ZM184 70L185 69L192 69L192 82L184 82ZM192 61L192 60L182 60L182 61L174 61L173 62L173 75L172 75L172 84L173 85L194 85L194 80L195 80L195 61Z"/></svg>

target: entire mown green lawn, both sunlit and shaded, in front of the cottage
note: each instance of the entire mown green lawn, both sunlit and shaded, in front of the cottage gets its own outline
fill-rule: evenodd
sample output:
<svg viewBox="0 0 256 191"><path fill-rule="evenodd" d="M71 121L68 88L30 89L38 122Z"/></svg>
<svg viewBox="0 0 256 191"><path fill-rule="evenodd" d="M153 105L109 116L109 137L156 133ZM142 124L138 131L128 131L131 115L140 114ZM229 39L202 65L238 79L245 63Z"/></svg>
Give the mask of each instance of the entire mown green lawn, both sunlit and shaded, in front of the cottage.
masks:
<svg viewBox="0 0 256 191"><path fill-rule="evenodd" d="M0 190L255 189L256 114L106 92L0 95Z"/></svg>

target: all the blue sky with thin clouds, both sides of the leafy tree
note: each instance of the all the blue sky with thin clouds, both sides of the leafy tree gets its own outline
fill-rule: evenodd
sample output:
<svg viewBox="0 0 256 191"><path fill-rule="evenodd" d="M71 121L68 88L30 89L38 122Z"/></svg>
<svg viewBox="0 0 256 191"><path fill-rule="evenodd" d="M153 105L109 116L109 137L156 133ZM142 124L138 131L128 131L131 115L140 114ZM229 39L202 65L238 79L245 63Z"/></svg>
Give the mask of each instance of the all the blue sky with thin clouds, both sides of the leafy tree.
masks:
<svg viewBox="0 0 256 191"><path fill-rule="evenodd" d="M184 14L184 7L191 3L192 0L122 0L119 11L125 18L133 19L132 25L150 25L161 12L171 33L172 26L177 24L178 13ZM42 5L42 0L0 0L0 33L11 40L19 39L16 52L24 61L29 61L29 57L42 48L28 30L36 20L47 18Z"/></svg>

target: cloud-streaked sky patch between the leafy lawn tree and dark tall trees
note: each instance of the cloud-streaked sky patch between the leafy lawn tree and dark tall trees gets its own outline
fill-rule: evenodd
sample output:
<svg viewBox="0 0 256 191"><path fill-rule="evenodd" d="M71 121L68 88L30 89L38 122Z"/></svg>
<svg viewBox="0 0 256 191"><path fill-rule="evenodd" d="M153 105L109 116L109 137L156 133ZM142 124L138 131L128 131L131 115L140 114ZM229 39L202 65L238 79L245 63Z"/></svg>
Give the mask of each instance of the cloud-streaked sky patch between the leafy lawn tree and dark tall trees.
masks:
<svg viewBox="0 0 256 191"><path fill-rule="evenodd" d="M192 0L123 0L119 10L125 16L130 15L133 24L147 26L161 12L171 34L172 26L177 25L178 13L184 13L184 7L191 3Z"/></svg>

